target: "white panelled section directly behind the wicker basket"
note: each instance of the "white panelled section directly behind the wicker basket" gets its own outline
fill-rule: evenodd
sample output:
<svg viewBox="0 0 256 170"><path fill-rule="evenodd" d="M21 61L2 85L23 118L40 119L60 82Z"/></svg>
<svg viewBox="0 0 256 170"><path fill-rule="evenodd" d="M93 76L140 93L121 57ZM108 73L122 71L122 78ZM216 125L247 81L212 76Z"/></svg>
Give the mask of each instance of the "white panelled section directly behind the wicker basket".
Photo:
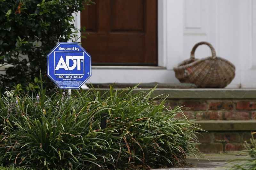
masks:
<svg viewBox="0 0 256 170"><path fill-rule="evenodd" d="M245 0L246 1L246 0ZM200 41L210 42L217 56L236 66L236 76L228 87L240 85L239 0L184 0L183 53L187 58ZM201 45L195 57L211 56L210 48ZM181 58L180 61L186 58Z"/></svg>

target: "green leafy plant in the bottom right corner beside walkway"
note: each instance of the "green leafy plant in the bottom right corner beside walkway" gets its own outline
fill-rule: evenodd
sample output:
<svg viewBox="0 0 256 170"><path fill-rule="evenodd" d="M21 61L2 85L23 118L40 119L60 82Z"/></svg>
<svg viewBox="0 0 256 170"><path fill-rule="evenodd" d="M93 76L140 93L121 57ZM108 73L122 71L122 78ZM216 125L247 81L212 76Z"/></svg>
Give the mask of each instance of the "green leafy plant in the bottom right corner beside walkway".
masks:
<svg viewBox="0 0 256 170"><path fill-rule="evenodd" d="M253 134L249 143L247 141L244 142L244 148L245 148L245 151L249 153L249 155L243 159L230 160L229 163L232 163L230 169L232 170L233 169L237 169L237 170L238 169L241 169L241 170L256 169L256 139L253 138Z"/></svg>

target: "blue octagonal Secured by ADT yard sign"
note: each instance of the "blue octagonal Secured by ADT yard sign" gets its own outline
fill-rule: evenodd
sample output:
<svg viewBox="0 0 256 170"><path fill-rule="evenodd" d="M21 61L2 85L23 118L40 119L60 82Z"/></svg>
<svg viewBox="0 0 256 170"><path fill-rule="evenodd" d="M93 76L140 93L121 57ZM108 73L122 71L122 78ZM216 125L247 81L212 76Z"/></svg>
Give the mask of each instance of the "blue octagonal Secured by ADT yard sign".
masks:
<svg viewBox="0 0 256 170"><path fill-rule="evenodd" d="M76 42L60 42L47 55L47 75L61 89L79 89L92 75L91 55Z"/></svg>

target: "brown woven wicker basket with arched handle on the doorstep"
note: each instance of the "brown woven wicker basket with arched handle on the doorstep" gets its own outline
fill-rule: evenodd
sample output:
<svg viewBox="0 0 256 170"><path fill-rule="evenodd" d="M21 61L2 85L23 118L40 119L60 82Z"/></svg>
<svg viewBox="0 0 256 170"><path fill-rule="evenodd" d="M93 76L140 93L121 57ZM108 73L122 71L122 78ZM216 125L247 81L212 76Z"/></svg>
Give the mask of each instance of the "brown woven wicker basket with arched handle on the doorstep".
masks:
<svg viewBox="0 0 256 170"><path fill-rule="evenodd" d="M195 59L195 50L199 45L206 44L212 51L212 56ZM224 88L235 77L236 67L228 60L217 57L215 49L208 42L197 43L190 59L173 68L175 76L181 83L194 83L201 88Z"/></svg>

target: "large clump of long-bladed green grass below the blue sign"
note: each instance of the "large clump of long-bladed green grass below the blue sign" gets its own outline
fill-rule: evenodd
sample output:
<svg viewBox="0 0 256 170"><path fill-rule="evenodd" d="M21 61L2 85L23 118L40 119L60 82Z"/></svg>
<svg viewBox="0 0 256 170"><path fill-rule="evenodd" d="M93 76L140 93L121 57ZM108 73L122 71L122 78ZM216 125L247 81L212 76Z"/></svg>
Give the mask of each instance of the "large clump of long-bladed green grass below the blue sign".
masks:
<svg viewBox="0 0 256 170"><path fill-rule="evenodd" d="M35 169L150 169L182 166L196 155L196 124L136 87L101 93L0 99L0 164ZM42 87L41 87L42 89ZM157 104L156 104L157 103ZM107 113L107 128L100 115Z"/></svg>

